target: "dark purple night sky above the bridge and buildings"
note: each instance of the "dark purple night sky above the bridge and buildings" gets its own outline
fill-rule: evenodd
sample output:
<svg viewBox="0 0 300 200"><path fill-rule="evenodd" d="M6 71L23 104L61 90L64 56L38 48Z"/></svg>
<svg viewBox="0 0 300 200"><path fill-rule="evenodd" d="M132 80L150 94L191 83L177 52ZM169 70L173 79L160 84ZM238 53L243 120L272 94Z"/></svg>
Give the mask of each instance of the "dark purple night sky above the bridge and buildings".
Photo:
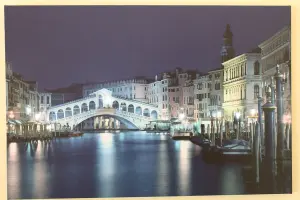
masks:
<svg viewBox="0 0 300 200"><path fill-rule="evenodd" d="M290 7L6 7L6 59L40 89L220 66L229 23L242 54L290 23Z"/></svg>

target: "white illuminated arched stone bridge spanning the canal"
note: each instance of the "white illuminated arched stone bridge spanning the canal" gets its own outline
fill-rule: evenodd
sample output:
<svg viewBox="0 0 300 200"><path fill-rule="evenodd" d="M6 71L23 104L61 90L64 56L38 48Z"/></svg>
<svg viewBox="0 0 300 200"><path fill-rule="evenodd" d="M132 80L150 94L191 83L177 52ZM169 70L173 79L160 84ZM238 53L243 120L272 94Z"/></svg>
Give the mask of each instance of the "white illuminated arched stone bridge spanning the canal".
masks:
<svg viewBox="0 0 300 200"><path fill-rule="evenodd" d="M98 90L89 96L47 110L47 121L52 124L74 128L144 129L151 120L160 118L158 107L132 99L112 96L107 89Z"/></svg>

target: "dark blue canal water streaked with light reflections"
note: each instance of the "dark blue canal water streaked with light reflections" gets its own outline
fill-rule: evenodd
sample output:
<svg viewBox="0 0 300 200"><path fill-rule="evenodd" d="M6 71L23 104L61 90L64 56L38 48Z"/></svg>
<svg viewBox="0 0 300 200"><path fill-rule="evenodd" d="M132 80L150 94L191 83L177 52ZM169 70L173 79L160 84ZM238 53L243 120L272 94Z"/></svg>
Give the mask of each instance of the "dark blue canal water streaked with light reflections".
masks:
<svg viewBox="0 0 300 200"><path fill-rule="evenodd" d="M49 143L11 143L8 198L244 194L241 166L201 160L189 141L146 132L87 133Z"/></svg>

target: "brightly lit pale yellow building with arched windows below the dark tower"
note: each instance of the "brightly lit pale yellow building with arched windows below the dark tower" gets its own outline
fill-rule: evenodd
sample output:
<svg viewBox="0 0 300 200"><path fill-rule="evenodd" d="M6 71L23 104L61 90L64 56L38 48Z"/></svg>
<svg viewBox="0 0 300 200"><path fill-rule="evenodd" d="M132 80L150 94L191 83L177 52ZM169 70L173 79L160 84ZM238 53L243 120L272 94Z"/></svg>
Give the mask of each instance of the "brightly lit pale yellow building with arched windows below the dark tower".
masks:
<svg viewBox="0 0 300 200"><path fill-rule="evenodd" d="M245 53L223 63L224 66L224 103L225 120L233 121L240 114L242 121L257 112L257 97L261 95L260 52Z"/></svg>

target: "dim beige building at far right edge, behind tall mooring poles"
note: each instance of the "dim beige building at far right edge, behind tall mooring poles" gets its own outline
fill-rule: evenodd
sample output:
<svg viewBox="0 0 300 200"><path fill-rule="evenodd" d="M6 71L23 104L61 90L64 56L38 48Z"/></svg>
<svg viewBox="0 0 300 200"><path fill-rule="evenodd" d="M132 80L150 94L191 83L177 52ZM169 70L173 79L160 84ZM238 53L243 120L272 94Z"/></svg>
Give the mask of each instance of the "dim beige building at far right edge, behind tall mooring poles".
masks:
<svg viewBox="0 0 300 200"><path fill-rule="evenodd" d="M262 42L261 62L262 81L264 86L271 83L271 77L276 73L276 66L279 65L280 72L285 74L287 83L284 85L284 112L291 113L291 26L286 26L269 39ZM275 79L274 79L275 83ZM264 95L264 101L266 96Z"/></svg>

